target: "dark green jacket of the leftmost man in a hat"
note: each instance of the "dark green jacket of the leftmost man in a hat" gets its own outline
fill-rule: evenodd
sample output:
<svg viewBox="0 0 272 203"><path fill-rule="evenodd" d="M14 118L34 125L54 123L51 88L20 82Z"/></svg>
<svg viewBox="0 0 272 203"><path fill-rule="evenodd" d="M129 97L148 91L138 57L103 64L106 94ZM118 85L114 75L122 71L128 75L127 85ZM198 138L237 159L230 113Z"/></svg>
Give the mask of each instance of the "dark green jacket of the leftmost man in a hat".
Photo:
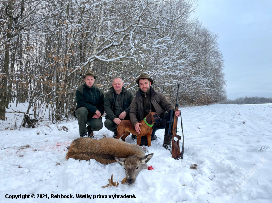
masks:
<svg viewBox="0 0 272 203"><path fill-rule="evenodd" d="M85 107L89 111L89 117L92 117L96 110L104 114L104 94L103 91L93 85L91 88L86 84L78 87L76 90L77 107Z"/></svg>

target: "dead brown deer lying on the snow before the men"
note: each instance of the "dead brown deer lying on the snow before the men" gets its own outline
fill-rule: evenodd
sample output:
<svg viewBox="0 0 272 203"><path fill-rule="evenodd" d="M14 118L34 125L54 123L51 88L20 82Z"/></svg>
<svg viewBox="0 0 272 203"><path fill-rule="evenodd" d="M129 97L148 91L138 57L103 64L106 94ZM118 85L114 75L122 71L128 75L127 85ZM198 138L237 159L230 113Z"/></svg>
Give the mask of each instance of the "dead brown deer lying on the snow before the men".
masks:
<svg viewBox="0 0 272 203"><path fill-rule="evenodd" d="M133 185L142 169L147 169L147 162L152 154L144 155L143 149L136 144L129 144L113 138L77 138L66 154L66 159L95 159L102 164L118 162L124 166L127 184Z"/></svg>

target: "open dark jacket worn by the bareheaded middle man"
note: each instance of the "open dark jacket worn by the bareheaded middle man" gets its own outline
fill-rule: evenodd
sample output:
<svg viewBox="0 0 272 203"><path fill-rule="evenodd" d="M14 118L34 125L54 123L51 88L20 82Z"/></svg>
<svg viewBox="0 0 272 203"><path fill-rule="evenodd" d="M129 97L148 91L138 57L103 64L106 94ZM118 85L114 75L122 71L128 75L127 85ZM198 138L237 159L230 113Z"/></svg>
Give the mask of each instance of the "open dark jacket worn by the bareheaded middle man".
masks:
<svg viewBox="0 0 272 203"><path fill-rule="evenodd" d="M122 87L122 104L123 104L123 109L127 113L126 117L124 120L129 120L129 113L130 113L130 105L133 100L133 94L131 91L126 90L124 87ZM106 118L109 118L110 120L113 121L113 119L118 118L119 115L115 115L114 112L114 102L115 102L115 97L114 97L115 91L113 87L109 89L109 91L105 95L105 113L106 113Z"/></svg>

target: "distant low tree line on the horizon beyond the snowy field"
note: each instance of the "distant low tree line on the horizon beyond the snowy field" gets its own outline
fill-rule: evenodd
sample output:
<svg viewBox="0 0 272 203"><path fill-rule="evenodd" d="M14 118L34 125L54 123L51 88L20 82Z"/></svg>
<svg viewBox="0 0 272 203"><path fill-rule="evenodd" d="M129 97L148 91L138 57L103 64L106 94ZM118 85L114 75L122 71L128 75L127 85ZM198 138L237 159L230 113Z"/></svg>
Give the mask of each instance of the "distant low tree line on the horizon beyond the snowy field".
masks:
<svg viewBox="0 0 272 203"><path fill-rule="evenodd" d="M272 98L266 97L238 97L235 100L225 100L224 104L261 104L261 103L272 103Z"/></svg>

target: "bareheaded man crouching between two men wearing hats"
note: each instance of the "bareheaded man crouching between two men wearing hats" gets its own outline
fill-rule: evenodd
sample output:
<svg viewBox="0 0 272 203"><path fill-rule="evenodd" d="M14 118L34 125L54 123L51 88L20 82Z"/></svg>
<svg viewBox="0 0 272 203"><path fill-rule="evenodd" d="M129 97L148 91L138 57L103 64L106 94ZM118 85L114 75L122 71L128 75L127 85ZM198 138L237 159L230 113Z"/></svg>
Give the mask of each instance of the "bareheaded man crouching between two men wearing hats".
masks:
<svg viewBox="0 0 272 203"><path fill-rule="evenodd" d="M117 125L121 123L121 120L130 119L130 104L133 100L133 94L123 86L122 79L116 77L112 81L112 87L105 95L105 126L108 130L114 132L113 138L117 137Z"/></svg>

